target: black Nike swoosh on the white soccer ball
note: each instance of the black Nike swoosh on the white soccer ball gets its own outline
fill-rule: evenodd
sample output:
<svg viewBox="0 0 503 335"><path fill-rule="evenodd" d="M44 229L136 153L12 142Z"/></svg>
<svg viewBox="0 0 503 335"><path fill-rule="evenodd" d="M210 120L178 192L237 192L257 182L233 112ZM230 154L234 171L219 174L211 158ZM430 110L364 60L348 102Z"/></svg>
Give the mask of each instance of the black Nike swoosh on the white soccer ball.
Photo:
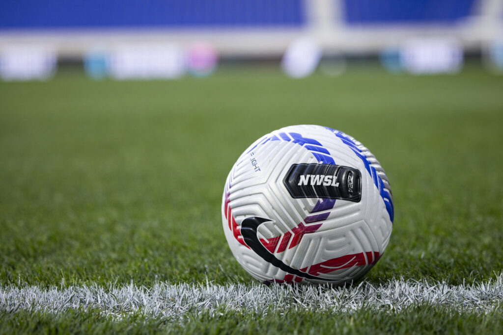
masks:
<svg viewBox="0 0 503 335"><path fill-rule="evenodd" d="M257 255L262 257L266 262L271 263L272 265L280 268L283 271L286 271L292 275L296 275L299 277L307 278L307 279L317 279L317 280L325 280L325 281L335 281L333 279L325 279L325 278L320 278L316 276L312 276L308 273L302 272L298 269L294 269L285 263L281 261L280 259L276 258L273 254L269 252L269 250L266 249L260 243L259 238L257 237L257 229L261 224L264 222L272 221L271 219L268 218L263 218L263 217L258 217L258 216L250 216L246 217L244 220L241 222L241 236L243 237L244 243L248 247L251 248L251 250L255 251Z"/></svg>

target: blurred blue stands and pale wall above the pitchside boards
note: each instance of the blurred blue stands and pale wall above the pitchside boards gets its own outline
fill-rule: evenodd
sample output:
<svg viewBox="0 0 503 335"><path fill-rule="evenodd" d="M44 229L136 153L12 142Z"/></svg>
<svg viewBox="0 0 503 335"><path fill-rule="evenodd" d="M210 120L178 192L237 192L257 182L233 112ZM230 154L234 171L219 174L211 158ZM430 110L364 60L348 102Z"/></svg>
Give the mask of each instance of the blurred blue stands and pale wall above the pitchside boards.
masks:
<svg viewBox="0 0 503 335"><path fill-rule="evenodd" d="M299 37L325 51L375 53L414 37L465 50L503 38L498 0L19 0L0 3L0 47L44 44L81 57L116 44L212 44L223 56L282 54Z"/></svg>

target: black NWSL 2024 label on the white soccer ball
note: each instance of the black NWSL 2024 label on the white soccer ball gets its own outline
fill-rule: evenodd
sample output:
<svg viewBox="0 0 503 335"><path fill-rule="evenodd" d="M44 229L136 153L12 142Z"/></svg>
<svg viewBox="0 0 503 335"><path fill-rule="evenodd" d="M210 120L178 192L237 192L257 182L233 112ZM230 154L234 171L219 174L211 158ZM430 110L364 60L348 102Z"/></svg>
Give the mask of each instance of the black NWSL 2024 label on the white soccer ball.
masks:
<svg viewBox="0 0 503 335"><path fill-rule="evenodd" d="M292 198L362 199L362 174L348 166L293 164L283 184Z"/></svg>

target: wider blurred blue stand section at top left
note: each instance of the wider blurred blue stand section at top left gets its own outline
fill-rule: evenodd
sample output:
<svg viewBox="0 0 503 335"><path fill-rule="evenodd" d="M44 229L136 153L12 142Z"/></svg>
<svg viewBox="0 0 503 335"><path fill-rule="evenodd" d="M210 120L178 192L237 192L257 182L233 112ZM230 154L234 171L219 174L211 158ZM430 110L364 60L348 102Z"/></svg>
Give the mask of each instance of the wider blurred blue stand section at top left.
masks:
<svg viewBox="0 0 503 335"><path fill-rule="evenodd" d="M1 0L0 29L302 26L302 0Z"/></svg>

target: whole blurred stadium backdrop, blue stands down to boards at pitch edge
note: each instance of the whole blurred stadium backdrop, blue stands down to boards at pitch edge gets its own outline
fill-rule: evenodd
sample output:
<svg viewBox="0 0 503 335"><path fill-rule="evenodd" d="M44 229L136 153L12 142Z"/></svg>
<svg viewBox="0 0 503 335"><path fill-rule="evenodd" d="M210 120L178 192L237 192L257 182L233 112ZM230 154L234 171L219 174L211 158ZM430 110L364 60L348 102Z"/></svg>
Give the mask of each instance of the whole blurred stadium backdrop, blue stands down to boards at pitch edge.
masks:
<svg viewBox="0 0 503 335"><path fill-rule="evenodd" d="M286 52L288 51L288 52ZM0 4L4 79L83 62L95 78L178 78L217 62L283 58L294 77L353 58L390 71L456 72L463 56L503 68L500 0L64 0Z"/></svg>

